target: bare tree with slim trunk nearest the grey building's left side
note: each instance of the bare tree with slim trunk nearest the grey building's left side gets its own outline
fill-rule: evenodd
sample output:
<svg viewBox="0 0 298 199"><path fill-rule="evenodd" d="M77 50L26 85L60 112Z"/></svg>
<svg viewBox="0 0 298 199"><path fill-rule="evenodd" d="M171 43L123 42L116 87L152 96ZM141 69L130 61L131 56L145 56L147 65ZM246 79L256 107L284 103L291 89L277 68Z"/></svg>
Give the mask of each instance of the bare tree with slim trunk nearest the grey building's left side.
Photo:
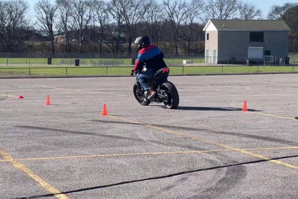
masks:
<svg viewBox="0 0 298 199"><path fill-rule="evenodd" d="M187 52L190 53L190 42L193 32L193 23L196 18L198 18L202 13L204 13L204 1L192 0L183 8L183 11L185 13L185 18L183 19L183 22L185 23L188 29L188 33L187 35L184 34L184 37L187 41Z"/></svg>

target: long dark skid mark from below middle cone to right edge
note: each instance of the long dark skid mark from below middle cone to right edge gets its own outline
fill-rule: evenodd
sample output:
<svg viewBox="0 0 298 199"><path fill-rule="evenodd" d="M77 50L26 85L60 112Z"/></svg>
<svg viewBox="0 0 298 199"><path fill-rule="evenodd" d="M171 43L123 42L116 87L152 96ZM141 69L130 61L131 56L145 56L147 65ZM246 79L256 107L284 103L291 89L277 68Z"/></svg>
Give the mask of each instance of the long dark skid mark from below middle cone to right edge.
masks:
<svg viewBox="0 0 298 199"><path fill-rule="evenodd" d="M222 134L222 135L232 135L232 136L238 136L238 137L244 137L244 138L252 138L257 140L264 140L264 141L270 141L275 142L279 144L288 144L292 146L298 146L297 142L291 142L287 140L281 140L276 138L268 138L263 136L257 136L257 135L248 135L243 133L233 133L233 132L225 132L225 131L214 131L209 129L198 129L198 128L190 128L190 127L177 127L177 126L167 126L167 125L158 125L158 124L138 124L138 123L132 123L132 122L120 122L120 121L106 121L106 120L89 120L93 122L104 122L104 123L114 123L114 124L135 124L135 125L152 125L155 127L162 127L162 128L168 128L168 129L181 129L181 130L189 130L189 131L201 131L201 132L208 132L208 133L216 133L216 134Z"/></svg>

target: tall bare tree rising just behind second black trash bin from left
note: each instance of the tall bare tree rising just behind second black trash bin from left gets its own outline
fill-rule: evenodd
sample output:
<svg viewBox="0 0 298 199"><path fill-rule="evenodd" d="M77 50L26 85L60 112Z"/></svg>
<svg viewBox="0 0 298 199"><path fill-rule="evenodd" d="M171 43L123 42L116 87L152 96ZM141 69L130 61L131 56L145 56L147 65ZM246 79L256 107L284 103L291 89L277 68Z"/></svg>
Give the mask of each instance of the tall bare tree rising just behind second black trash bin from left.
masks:
<svg viewBox="0 0 298 199"><path fill-rule="evenodd" d="M82 53L84 39L88 38L86 30L91 20L91 2L89 0L72 0L72 5L75 8L72 18L75 28L78 31L80 53Z"/></svg>

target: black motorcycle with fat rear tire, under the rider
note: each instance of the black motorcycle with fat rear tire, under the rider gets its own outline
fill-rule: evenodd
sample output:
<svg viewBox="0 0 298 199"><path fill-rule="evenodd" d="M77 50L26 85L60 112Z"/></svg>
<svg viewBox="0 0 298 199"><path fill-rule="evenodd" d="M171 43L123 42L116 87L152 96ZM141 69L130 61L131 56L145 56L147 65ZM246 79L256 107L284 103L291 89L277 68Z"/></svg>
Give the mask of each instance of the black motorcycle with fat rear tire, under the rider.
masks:
<svg viewBox="0 0 298 199"><path fill-rule="evenodd" d="M142 71L145 70L147 70L146 66L143 66ZM168 109L176 109L179 105L179 94L175 85L167 80L170 69L166 67L158 70L154 74L153 80L148 82L150 86L154 88L154 90L156 90L155 96L150 99L148 99L148 96L144 95L145 90L142 87L142 84L140 84L139 80L137 79L138 75L142 71L134 72L134 74L136 75L136 82L134 84L133 91L136 101L138 101L139 104L142 104L143 106L147 106L150 103L156 102L164 103L164 105ZM133 72L131 73L131 75L133 75Z"/></svg>

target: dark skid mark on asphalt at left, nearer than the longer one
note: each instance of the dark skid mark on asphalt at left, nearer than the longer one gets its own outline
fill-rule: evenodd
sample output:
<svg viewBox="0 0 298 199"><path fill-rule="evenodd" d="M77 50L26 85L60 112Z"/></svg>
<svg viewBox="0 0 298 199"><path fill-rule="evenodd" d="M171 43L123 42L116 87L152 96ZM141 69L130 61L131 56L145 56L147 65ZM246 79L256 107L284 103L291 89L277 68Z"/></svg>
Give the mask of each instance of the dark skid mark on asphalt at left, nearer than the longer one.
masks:
<svg viewBox="0 0 298 199"><path fill-rule="evenodd" d="M63 133L72 133L72 134L80 134L80 135L93 135L93 136L100 136L105 138L115 138L115 139L122 139L122 140L132 140L132 141L138 141L138 142L146 142L142 139L138 138L127 138L117 135L106 135L106 134L100 134L100 133L90 133L90 132L83 132L83 131L70 131L65 129L52 129L52 128L44 128L44 127L32 127L32 126L14 126L19 128L26 128L26 129L36 129L36 130L43 130L43 131L54 131L54 132L63 132Z"/></svg>

